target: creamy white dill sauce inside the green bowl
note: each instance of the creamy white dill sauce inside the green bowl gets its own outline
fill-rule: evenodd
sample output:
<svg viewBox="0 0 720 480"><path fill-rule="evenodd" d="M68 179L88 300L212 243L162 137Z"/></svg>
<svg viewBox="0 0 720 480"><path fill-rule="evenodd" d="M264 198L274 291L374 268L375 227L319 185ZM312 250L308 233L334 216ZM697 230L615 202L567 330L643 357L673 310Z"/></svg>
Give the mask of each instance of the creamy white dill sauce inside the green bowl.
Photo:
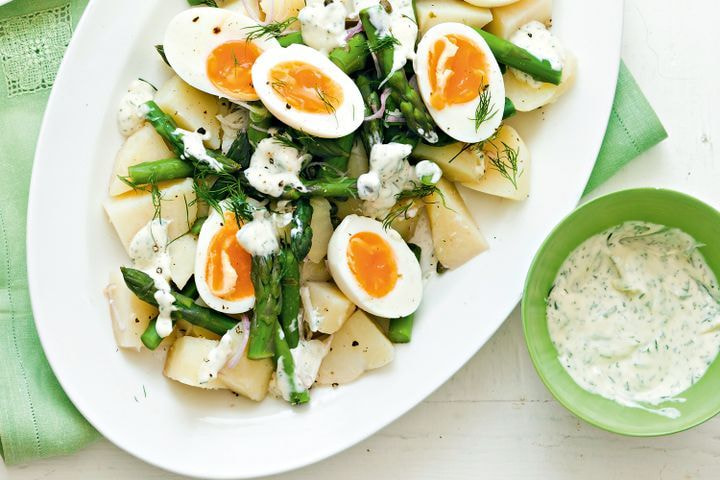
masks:
<svg viewBox="0 0 720 480"><path fill-rule="evenodd" d="M655 408L702 377L720 351L720 289L676 228L626 222L595 235L560 267L547 300L558 360L590 393Z"/></svg>

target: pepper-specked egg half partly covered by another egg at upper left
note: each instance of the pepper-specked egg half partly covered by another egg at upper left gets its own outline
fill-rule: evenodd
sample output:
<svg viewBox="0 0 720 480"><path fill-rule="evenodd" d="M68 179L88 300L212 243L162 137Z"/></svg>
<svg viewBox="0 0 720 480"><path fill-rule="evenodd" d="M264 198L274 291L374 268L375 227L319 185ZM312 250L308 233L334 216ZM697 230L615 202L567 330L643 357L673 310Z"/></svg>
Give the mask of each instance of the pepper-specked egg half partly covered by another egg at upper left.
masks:
<svg viewBox="0 0 720 480"><path fill-rule="evenodd" d="M199 90L230 100L257 100L250 70L263 52L280 48L274 38L252 38L259 27L237 12L191 8L170 21L165 57L180 78Z"/></svg>

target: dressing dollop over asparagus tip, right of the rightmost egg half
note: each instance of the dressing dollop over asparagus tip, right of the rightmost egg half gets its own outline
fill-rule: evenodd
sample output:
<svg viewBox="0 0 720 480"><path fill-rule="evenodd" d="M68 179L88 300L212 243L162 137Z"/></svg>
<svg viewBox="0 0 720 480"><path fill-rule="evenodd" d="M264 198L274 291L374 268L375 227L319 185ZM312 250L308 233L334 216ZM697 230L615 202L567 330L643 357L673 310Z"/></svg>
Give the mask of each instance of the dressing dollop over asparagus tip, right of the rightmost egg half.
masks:
<svg viewBox="0 0 720 480"><path fill-rule="evenodd" d="M565 64L565 49L560 40L553 35L544 24L533 20L526 23L510 37L510 42L522 47L540 60L547 60L555 70L561 70ZM518 80L534 88L540 88L543 82L538 82L532 76L516 68L509 69Z"/></svg>

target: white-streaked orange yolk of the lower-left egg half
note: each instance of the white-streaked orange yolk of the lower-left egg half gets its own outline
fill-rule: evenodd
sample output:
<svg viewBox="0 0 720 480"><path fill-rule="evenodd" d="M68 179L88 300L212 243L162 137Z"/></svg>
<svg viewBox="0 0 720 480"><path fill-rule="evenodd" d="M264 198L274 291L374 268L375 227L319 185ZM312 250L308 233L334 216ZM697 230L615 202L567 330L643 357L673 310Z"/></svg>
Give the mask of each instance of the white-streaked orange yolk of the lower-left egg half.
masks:
<svg viewBox="0 0 720 480"><path fill-rule="evenodd" d="M250 279L252 257L238 243L239 228L232 212L225 212L223 226L210 240L205 278L210 292L224 300L236 301L252 296Z"/></svg>

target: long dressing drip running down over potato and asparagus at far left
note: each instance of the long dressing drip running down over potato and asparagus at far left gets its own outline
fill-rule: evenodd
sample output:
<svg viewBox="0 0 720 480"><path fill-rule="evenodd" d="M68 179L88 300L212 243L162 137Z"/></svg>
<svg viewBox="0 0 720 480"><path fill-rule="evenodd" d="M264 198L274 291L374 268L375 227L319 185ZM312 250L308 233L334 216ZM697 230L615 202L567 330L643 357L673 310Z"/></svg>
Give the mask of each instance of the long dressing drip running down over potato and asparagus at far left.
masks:
<svg viewBox="0 0 720 480"><path fill-rule="evenodd" d="M130 242L130 258L133 265L150 275L155 283L154 296L159 312L155 330L162 338L172 332L170 315L177 310L174 305L175 297L170 289L170 254L167 250L169 225L168 220L151 220Z"/></svg>

